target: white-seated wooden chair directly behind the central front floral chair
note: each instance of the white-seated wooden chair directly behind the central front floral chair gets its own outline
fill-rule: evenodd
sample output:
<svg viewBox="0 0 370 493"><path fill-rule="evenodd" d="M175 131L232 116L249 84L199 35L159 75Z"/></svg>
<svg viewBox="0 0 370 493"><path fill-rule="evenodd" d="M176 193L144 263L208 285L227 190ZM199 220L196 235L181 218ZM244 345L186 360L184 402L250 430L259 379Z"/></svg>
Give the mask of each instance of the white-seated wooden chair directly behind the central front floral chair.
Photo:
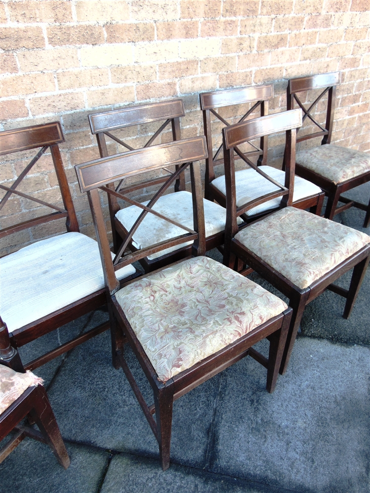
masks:
<svg viewBox="0 0 370 493"><path fill-rule="evenodd" d="M133 150L129 144L112 134L113 131L125 130L129 127L137 127L138 125L148 126L148 124L152 124L153 122L165 120L143 147L150 146L153 141L159 137L160 133L170 124L172 126L173 140L180 140L180 117L184 115L184 103L181 99L178 99L93 113L89 115L89 122L91 132L96 135L98 141L100 156L106 157L108 156L106 136L127 149ZM176 167L177 165L175 168ZM163 172L165 173L163 174ZM153 175L152 171L151 174ZM161 170L156 171L154 176L149 176L140 183L131 184L127 180L125 182L121 180L117 183L115 188L113 183L111 183L108 188L111 190L115 189L116 192L125 194L134 191L136 194L139 194L141 191L143 197L145 197L145 195L148 197L148 190L150 190L150 187L159 183L164 183L170 176L169 174L171 174L171 170L164 167ZM184 173L181 174L174 183L174 192L176 193L169 193L161 197L156 202L154 210L165 215L172 214L172 218L175 222L187 224L188 227L191 227L192 198L191 194L185 190ZM127 235L127 231L139 216L140 209L134 205L126 209L121 209L117 197L112 194L108 194L108 202L111 215L113 250L114 252L117 252L119 246L122 244L122 238ZM142 203L148 204L148 202ZM215 204L212 201L204 200L203 205L206 218L206 249L211 250L212 248L223 244L226 211L220 205ZM147 224L147 221L150 221L150 224ZM150 234L148 235L149 231ZM176 226L161 220L159 217L147 217L142 227L135 232L128 247L132 251L135 251L152 245L160 240L171 238L174 236L175 232ZM166 252L164 255L156 253L141 258L140 263L145 272L151 272L154 269L158 269L159 267L189 255L191 246L177 247L173 250Z"/></svg>

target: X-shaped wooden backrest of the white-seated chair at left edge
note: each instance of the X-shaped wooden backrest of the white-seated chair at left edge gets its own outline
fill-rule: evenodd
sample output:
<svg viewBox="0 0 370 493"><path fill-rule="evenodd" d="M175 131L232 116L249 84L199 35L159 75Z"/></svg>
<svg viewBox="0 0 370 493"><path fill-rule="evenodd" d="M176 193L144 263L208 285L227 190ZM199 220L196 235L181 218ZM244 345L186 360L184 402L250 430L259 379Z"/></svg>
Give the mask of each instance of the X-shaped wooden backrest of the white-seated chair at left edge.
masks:
<svg viewBox="0 0 370 493"><path fill-rule="evenodd" d="M77 217L74 211L71 192L67 181L67 176L64 170L62 157L58 147L58 144L61 142L64 142L64 136L59 122L51 122L42 125L35 125L32 127L24 127L14 130L6 130L5 132L0 132L1 156L39 148L36 156L33 159L31 159L31 161L24 167L24 169L18 174L17 178L13 181L11 185L8 186L8 184L6 182L5 184L4 181L0 184L0 189L5 191L5 194L3 195L0 201L0 210L2 215L3 216L6 215L6 208L4 208L4 206L6 204L8 205L10 204L8 202L8 199L12 195L21 197L23 199L29 199L40 206L44 206L44 207L46 206L53 210L53 212L51 213L40 215L37 217L32 217L31 219L28 219L26 221L21 221L17 224L14 224L14 221L12 221L11 224L7 224L3 229L0 230L0 239L12 233L17 233L19 231L31 228L33 226L38 226L40 224L53 221L56 219L60 219L63 217L67 218L66 219L67 231L77 231L77 232L79 231ZM30 172L32 172L39 158L42 155L44 155L44 153L48 149L50 149L51 152L51 157L52 157L64 209L54 204L50 204L48 202L40 200L35 196L29 195L24 191L19 190L19 185L21 184L22 180ZM22 158L24 159L23 155ZM18 155L14 156L13 161L15 163L19 162ZM2 166L4 166L4 164L2 164ZM16 168L16 166L14 166L14 168ZM23 184L24 186L27 187L26 182L23 182ZM31 192L33 191L34 190L31 190ZM33 213L34 212L35 211L33 211ZM14 214L14 218L16 218L17 215L18 214ZM10 219L12 219L12 214L8 215L7 223L10 221ZM21 214L21 219L22 219L22 214Z"/></svg>

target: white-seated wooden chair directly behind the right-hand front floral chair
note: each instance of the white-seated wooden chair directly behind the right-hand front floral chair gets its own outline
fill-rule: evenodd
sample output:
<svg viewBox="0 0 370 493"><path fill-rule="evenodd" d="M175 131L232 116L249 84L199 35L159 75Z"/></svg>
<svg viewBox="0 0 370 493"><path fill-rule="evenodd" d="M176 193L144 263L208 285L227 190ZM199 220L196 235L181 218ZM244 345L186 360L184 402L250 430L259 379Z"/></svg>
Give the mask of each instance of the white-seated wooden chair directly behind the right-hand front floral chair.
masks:
<svg viewBox="0 0 370 493"><path fill-rule="evenodd" d="M213 154L214 131L212 128L215 123L211 123L211 115L222 122L223 126L229 126L230 123L223 118L219 112L224 111L227 106L250 105L250 109L240 118L243 122L259 110L260 116L268 114L269 101L274 97L274 88L272 84L260 86L243 87L240 89L227 89L223 91L214 91L200 94L200 107L203 110L204 134L207 139L208 158L206 160L205 173L205 197L209 200L216 200L219 204L226 207L226 184L225 176L216 177L215 166L223 165L222 142L215 154ZM231 107L231 111L236 111ZM239 109L240 112L240 109ZM236 115L235 115L236 116ZM216 121L217 121L216 120ZM219 123L217 121L217 123ZM265 194L279 190L280 185L284 184L285 173L271 166L267 166L267 148L268 136L263 136L257 143L248 141L244 142L247 149L243 152L239 146L234 147L234 159L241 159L246 165L245 169L235 172L236 186L236 203L241 206L250 200L263 197ZM257 159L257 164L255 163ZM239 165L240 167L240 165ZM256 170L258 173L256 173ZM265 179L270 176L272 180ZM296 177L294 186L293 206L299 209L309 208L311 212L321 213L324 201L324 192L315 184L303 178ZM266 214L269 211L279 208L281 198L277 197L267 202L256 204L256 207L249 209L243 215L246 222L251 222L257 217Z"/></svg>

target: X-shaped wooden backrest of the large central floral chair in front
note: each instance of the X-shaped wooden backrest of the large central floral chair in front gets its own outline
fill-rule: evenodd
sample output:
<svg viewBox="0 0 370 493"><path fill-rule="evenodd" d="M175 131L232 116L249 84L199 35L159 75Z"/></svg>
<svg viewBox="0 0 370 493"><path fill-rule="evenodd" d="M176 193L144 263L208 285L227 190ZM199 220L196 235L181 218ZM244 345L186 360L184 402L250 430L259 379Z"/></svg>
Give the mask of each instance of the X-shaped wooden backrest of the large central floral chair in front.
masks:
<svg viewBox="0 0 370 493"><path fill-rule="evenodd" d="M131 264L148 255L157 253L166 248L182 245L185 242L194 241L192 251L195 255L202 255L205 252L205 226L202 199L202 186L200 178L200 168L197 162L207 157L207 146L205 137L193 137L182 141L173 141L159 145L153 145L142 149L131 150L122 154L115 154L88 163L75 166L77 179L81 192L87 192L96 236L99 243L100 254L103 263L105 282L110 293L114 293L119 288L114 272L125 265ZM194 163L192 161L195 161ZM119 185L116 189L109 188L107 185L113 182L120 184L125 179L132 179L143 173L161 169L163 166L177 166L177 170L172 173L163 185L159 188L147 206L140 204L127 195L119 192ZM185 170L190 168L191 188L193 194L193 220L194 229L187 228L152 209L159 197L163 196L169 186L171 186ZM111 258L103 211L100 205L98 189L107 192L109 195L120 198L129 204L136 205L142 209L142 213L135 221L123 239L123 243L117 251L114 259ZM125 253L132 236L142 223L148 213L175 224L182 228L185 234L167 241L156 243L155 245L139 249L134 252Z"/></svg>

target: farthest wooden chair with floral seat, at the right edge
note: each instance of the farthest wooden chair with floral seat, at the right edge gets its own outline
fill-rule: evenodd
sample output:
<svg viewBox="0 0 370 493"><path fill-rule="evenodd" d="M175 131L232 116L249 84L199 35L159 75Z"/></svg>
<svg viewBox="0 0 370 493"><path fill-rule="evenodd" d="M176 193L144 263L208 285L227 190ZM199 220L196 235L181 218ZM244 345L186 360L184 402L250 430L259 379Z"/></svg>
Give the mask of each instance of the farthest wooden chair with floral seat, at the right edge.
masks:
<svg viewBox="0 0 370 493"><path fill-rule="evenodd" d="M310 77L299 77L290 79L287 88L287 108L293 109L296 101L303 110L303 121L308 117L316 125L315 132L297 138L297 142L322 137L321 145L302 149L296 153L296 174L316 183L328 196L325 209L325 217L333 219L338 212L345 211L350 207L357 207L366 211L364 228L370 224L370 200L369 204L361 204L341 195L347 190L370 181L370 157L366 152L356 151L339 145L331 144L335 90L339 83L339 72L323 73ZM321 94L306 109L298 98L299 93L308 93L307 97L316 89L323 89ZM312 115L319 101L328 96L326 104L325 126L317 121ZM312 98L313 99L313 98ZM344 205L337 207L338 202Z"/></svg>

